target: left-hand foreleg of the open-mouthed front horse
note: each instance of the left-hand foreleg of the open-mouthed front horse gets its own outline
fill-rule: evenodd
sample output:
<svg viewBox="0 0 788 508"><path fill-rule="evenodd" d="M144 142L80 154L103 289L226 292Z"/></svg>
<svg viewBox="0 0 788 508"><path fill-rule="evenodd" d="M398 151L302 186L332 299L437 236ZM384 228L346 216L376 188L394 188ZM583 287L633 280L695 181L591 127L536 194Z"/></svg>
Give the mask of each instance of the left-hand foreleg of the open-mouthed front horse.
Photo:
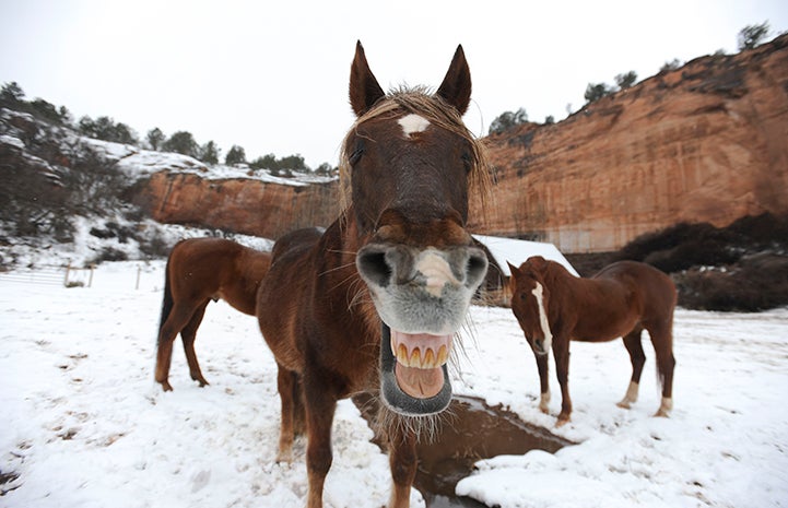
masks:
<svg viewBox="0 0 788 508"><path fill-rule="evenodd" d="M331 424L337 411L337 398L326 389L321 380L304 382L306 403L306 470L309 484L307 508L322 508L322 487L331 469Z"/></svg>

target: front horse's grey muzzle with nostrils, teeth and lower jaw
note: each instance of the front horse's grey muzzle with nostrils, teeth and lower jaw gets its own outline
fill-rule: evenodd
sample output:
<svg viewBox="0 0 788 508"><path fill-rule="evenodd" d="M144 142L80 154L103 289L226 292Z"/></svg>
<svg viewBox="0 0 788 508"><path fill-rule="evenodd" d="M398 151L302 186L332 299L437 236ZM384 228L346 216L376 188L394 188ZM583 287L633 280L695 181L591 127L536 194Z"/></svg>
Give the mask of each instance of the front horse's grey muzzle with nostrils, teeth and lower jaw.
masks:
<svg viewBox="0 0 788 508"><path fill-rule="evenodd" d="M383 321L384 401L407 415L443 411L451 399L452 335L484 280L486 256L475 247L369 244L358 250L356 267Z"/></svg>

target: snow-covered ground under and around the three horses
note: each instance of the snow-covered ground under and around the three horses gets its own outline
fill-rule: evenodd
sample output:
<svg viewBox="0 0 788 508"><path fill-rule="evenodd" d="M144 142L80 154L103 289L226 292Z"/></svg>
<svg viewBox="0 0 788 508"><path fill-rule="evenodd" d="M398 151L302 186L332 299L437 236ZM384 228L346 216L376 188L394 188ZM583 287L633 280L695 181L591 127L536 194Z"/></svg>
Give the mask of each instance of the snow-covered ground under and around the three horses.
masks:
<svg viewBox="0 0 788 508"><path fill-rule="evenodd" d="M274 461L275 368L254 318L212 304L197 352L210 387L188 377L178 346L170 382L153 382L163 262L102 265L93 286L0 275L0 506L303 507L304 440ZM140 271L137 286L138 267ZM551 427L538 409L534 361L507 309L472 309L474 339L455 391ZM640 400L615 406L630 377L621 342L573 344L577 441L478 463L458 493L502 507L788 506L788 309L755 315L679 310L674 412L659 402L654 353ZM327 507L377 508L388 462L349 402L340 404ZM424 506L414 489L412 506Z"/></svg>

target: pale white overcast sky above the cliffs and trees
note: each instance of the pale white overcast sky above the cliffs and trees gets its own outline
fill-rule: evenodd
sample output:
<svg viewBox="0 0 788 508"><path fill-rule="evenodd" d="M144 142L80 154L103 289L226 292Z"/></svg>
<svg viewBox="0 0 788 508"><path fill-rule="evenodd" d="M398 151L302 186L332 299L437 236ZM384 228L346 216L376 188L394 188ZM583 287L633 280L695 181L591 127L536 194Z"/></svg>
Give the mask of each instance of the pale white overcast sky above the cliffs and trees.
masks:
<svg viewBox="0 0 788 508"><path fill-rule="evenodd" d="M140 138L187 130L222 157L238 144L248 160L299 153L317 167L337 164L353 121L356 39L384 88L437 87L462 44L466 122L485 134L520 107L561 120L590 82L736 52L739 31L764 21L788 29L788 1L0 0L0 83Z"/></svg>

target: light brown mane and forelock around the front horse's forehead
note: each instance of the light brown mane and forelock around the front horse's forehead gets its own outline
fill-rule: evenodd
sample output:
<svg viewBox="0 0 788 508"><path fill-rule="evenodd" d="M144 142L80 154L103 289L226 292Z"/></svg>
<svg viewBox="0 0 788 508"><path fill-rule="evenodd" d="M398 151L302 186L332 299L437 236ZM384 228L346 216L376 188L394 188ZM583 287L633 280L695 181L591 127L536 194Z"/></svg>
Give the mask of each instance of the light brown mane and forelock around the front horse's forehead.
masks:
<svg viewBox="0 0 788 508"><path fill-rule="evenodd" d="M492 188L492 164L489 161L485 145L466 127L462 122L462 116L454 106L447 104L437 95L431 94L426 86L415 86L412 88L400 87L390 91L369 108L368 111L356 119L342 140L339 156L340 209L342 216L344 216L352 204L350 191L351 154L348 150L350 137L355 132L356 128L365 121L384 116L392 118L402 111L420 115L426 118L430 123L446 129L468 141L468 144L471 146L469 191L479 193L482 211L484 211Z"/></svg>

